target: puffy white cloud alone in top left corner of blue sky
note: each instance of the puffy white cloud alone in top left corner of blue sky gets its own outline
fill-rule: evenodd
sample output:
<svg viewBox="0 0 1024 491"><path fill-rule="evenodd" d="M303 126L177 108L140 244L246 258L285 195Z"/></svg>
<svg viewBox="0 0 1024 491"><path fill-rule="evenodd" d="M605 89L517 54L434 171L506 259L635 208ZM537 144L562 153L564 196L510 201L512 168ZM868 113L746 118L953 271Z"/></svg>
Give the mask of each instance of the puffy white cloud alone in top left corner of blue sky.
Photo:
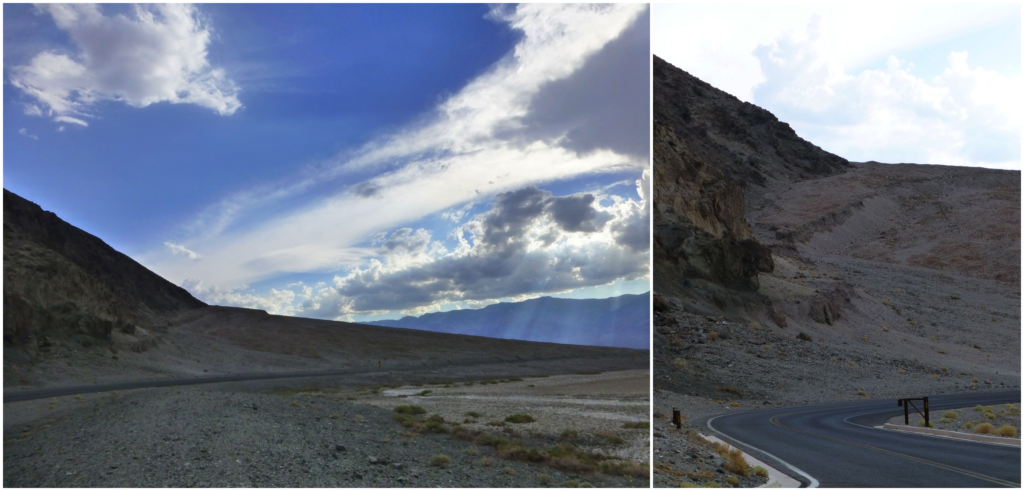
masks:
<svg viewBox="0 0 1024 491"><path fill-rule="evenodd" d="M223 70L210 67L210 31L187 4L135 5L132 14L106 16L93 4L42 4L75 44L73 53L44 51L10 70L10 83L54 121L85 126L99 101L136 108L157 103L195 104L221 115L242 104Z"/></svg>

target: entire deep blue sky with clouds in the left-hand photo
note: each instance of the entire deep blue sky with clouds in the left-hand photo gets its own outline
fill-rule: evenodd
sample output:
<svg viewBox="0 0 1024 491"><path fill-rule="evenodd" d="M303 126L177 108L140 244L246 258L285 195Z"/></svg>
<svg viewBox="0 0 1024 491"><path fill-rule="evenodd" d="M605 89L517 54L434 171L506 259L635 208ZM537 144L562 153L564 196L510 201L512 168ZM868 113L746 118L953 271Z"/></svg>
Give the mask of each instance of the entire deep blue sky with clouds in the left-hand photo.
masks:
<svg viewBox="0 0 1024 491"><path fill-rule="evenodd" d="M4 188L211 303L649 289L643 5L4 5Z"/></svg>

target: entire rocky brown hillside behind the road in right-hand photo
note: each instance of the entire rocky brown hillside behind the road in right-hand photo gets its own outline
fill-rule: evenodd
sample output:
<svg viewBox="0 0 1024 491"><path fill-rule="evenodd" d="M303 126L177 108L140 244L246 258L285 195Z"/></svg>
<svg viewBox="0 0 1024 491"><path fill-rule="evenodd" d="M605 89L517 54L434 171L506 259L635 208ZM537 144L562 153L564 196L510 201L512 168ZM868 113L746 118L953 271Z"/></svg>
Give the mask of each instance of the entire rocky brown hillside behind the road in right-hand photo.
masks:
<svg viewBox="0 0 1024 491"><path fill-rule="evenodd" d="M1019 386L1020 172L850 163L656 57L654 115L656 388Z"/></svg>

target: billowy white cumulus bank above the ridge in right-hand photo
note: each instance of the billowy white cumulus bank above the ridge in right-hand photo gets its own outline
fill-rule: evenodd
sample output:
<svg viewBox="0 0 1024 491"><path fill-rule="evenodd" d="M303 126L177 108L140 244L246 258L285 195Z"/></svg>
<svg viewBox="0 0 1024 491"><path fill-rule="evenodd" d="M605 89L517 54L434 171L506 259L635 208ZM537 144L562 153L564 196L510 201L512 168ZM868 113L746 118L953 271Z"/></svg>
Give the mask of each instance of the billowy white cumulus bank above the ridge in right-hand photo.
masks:
<svg viewBox="0 0 1024 491"><path fill-rule="evenodd" d="M755 50L765 82L758 104L804 138L854 161L1019 168L1020 76L970 67L952 52L932 80L890 56L886 69L848 73L825 46L820 17Z"/></svg>

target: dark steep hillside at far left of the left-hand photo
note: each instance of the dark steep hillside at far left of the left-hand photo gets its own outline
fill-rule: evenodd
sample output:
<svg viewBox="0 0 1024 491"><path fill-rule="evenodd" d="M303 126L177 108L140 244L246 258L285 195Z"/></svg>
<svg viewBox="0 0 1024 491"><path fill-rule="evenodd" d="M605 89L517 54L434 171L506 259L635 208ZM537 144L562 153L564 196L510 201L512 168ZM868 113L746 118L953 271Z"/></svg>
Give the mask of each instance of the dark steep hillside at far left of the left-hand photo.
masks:
<svg viewBox="0 0 1024 491"><path fill-rule="evenodd" d="M8 347L133 334L205 306L184 289L14 193L3 192L3 338Z"/></svg>

